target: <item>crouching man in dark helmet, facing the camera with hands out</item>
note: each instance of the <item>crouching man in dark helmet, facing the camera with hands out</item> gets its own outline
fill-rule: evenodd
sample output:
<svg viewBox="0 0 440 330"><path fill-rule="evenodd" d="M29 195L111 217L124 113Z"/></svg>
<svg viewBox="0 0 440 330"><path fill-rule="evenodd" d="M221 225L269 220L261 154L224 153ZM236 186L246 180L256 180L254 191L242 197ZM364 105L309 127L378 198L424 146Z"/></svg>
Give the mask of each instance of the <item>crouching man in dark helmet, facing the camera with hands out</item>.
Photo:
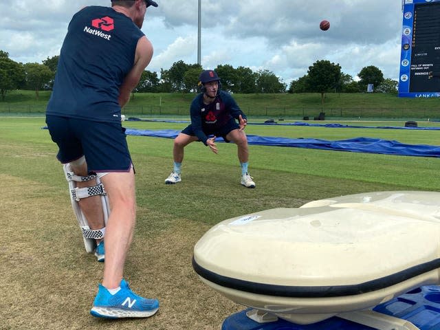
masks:
<svg viewBox="0 0 440 330"><path fill-rule="evenodd" d="M199 85L202 93L192 100L191 124L174 140L174 169L166 178L165 183L177 184L181 181L181 162L184 160L185 146L191 142L200 141L217 154L215 138L221 136L225 142L232 141L238 148L241 184L247 188L255 188L255 183L248 173L248 139L243 131L248 122L246 115L229 93L219 90L220 78L213 70L201 72Z"/></svg>

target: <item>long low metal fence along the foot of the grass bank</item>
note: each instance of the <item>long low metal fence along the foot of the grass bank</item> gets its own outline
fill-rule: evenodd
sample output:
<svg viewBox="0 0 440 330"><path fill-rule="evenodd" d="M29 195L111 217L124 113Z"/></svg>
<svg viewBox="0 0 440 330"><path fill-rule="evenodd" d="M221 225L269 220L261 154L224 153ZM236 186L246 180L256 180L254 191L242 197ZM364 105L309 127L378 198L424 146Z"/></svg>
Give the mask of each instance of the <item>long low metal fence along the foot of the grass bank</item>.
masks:
<svg viewBox="0 0 440 330"><path fill-rule="evenodd" d="M45 113L43 104L1 104L0 113L32 114ZM303 120L318 119L320 113L326 119L331 118L383 118L402 119L415 118L417 120L439 120L440 110L437 109L321 109L321 108L288 108L288 107L241 107L249 117L262 118L292 118ZM160 107L153 105L126 106L122 111L126 116L159 116L188 115L189 107Z"/></svg>

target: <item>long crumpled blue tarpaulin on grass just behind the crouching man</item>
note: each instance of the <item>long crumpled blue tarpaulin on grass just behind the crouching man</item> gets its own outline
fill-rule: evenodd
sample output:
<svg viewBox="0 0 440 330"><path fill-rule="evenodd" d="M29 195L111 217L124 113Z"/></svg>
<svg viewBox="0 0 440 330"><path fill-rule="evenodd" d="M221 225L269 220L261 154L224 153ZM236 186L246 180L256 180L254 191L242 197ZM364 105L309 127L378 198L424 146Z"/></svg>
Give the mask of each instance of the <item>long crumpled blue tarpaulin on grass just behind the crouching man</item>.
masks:
<svg viewBox="0 0 440 330"><path fill-rule="evenodd" d="M180 131L126 129L127 135L165 137L174 139ZM224 142L217 137L216 142ZM289 146L295 148L314 148L333 151L351 151L353 153L380 153L386 155L406 155L419 157L440 157L440 146L426 144L404 144L395 140L374 139L371 137L355 137L348 140L327 141L319 139L290 139L288 137L271 137L248 135L248 144L260 146Z"/></svg>

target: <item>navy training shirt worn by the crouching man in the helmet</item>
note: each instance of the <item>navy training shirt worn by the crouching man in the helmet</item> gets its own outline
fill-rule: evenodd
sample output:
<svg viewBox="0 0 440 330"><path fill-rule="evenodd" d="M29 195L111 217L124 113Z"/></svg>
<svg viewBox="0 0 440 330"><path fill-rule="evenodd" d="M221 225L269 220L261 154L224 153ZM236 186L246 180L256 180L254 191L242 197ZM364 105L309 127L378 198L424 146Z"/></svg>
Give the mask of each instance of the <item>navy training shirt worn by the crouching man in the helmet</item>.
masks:
<svg viewBox="0 0 440 330"><path fill-rule="evenodd" d="M191 102L191 126L199 140L206 144L208 136L228 124L232 118L239 120L239 115L246 119L234 98L226 92L219 91L210 104L203 103L203 93Z"/></svg>

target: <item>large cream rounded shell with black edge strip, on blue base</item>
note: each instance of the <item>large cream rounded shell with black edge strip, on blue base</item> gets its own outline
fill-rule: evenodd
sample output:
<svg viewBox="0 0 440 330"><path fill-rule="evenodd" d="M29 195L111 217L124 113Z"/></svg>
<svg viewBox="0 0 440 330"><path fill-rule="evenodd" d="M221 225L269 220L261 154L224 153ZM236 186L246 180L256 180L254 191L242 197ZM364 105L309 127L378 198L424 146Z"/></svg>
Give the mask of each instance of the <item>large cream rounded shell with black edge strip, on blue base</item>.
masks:
<svg viewBox="0 0 440 330"><path fill-rule="evenodd" d="M236 303L309 324L439 283L439 238L439 192L369 192L222 221L192 266Z"/></svg>

